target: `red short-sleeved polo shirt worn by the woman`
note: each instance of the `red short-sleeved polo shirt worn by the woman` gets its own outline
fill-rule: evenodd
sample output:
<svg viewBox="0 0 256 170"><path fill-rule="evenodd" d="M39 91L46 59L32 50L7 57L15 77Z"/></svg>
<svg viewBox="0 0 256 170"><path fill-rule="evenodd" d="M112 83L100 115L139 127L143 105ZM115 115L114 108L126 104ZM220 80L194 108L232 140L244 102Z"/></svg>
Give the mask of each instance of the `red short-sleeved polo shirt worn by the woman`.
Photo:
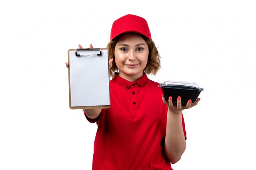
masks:
<svg viewBox="0 0 256 170"><path fill-rule="evenodd" d="M164 156L167 106L158 83L147 75L110 81L110 108L96 119L93 170L172 170ZM186 131L182 117L184 135Z"/></svg>

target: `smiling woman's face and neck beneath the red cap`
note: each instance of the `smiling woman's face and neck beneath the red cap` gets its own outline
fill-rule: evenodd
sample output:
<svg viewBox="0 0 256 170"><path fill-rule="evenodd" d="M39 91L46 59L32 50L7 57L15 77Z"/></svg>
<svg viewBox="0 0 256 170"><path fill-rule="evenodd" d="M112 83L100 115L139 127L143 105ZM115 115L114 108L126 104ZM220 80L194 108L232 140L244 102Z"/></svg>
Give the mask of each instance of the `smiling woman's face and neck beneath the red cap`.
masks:
<svg viewBox="0 0 256 170"><path fill-rule="evenodd" d="M115 46L119 76L134 82L143 75L148 62L148 44L137 33L125 33Z"/></svg>

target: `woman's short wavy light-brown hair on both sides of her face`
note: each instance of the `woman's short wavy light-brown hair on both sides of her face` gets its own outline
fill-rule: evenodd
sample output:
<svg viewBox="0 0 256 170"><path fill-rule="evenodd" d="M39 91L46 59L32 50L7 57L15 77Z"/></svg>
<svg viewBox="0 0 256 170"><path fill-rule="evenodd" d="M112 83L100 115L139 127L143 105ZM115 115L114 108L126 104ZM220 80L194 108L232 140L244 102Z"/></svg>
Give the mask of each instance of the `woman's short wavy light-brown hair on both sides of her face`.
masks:
<svg viewBox="0 0 256 170"><path fill-rule="evenodd" d="M139 34L140 35L140 34ZM115 46L118 40L121 38L122 35L119 35L114 40L108 42L107 49L108 49L108 59L113 58L112 66L109 68L109 73L111 77L115 77L115 72L118 71L117 65L115 63ZM157 51L157 47L155 46L155 42L146 38L144 35L141 35L144 41L148 44L149 54L148 54L148 63L144 68L144 72L146 74L153 74L156 75L157 71L161 68L161 57Z"/></svg>

